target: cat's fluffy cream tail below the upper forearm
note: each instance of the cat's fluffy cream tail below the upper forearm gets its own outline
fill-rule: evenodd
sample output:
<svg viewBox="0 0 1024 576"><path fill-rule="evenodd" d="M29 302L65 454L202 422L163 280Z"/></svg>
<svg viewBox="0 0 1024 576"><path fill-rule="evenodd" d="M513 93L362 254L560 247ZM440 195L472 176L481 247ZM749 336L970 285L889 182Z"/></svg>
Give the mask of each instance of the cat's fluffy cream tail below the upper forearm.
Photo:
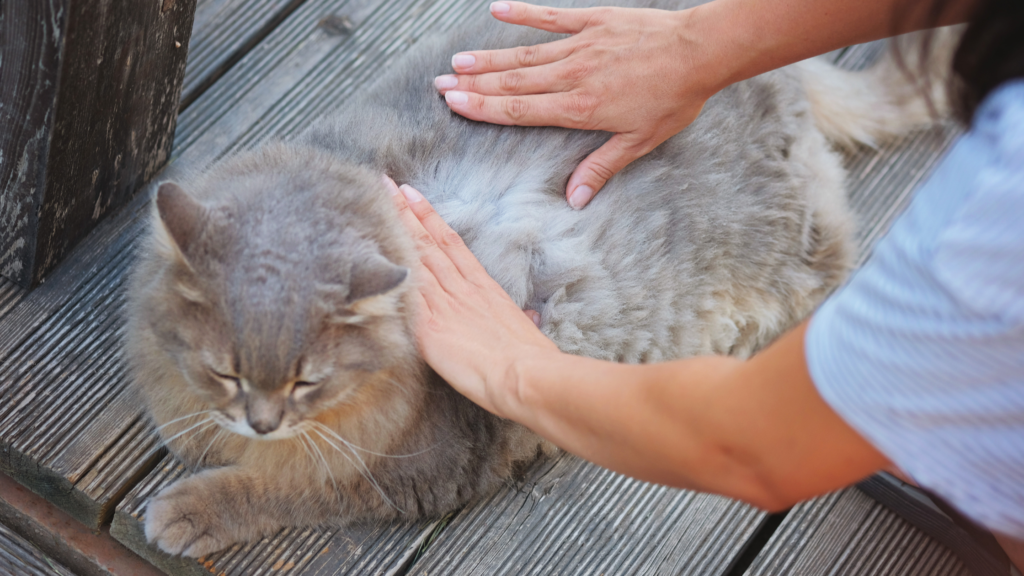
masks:
<svg viewBox="0 0 1024 576"><path fill-rule="evenodd" d="M818 128L839 146L873 147L947 116L946 84L962 33L962 27L934 31L927 54L921 50L926 33L893 40L903 66L892 46L863 71L842 70L823 58L800 63Z"/></svg>

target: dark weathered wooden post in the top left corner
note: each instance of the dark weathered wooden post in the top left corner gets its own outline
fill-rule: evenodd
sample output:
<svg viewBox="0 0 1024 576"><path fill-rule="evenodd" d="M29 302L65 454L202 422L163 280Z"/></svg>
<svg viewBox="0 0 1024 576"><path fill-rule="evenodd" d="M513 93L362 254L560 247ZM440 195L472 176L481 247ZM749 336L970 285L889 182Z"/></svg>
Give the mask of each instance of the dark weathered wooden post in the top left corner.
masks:
<svg viewBox="0 0 1024 576"><path fill-rule="evenodd" d="M168 161L196 0L0 0L0 276L31 287Z"/></svg>

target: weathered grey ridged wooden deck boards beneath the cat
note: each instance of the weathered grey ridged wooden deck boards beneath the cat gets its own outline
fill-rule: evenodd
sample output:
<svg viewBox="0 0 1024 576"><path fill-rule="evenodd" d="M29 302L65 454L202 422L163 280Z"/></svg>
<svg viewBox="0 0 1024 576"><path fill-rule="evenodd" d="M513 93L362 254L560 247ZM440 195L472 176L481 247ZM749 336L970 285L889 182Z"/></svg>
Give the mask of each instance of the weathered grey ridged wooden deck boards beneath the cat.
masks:
<svg viewBox="0 0 1024 576"><path fill-rule="evenodd" d="M468 0L200 0L163 177L300 130L425 31L483 9ZM856 68L879 49L836 57ZM939 127L848 158L861 260L954 135ZM450 518L285 530L199 562L170 558L145 544L140 519L147 498L187 471L123 394L119 351L122 285L147 202L141 194L109 217L31 293L0 280L0 468L88 526L110 523L169 574L968 574L854 488L769 516L569 455Z"/></svg>

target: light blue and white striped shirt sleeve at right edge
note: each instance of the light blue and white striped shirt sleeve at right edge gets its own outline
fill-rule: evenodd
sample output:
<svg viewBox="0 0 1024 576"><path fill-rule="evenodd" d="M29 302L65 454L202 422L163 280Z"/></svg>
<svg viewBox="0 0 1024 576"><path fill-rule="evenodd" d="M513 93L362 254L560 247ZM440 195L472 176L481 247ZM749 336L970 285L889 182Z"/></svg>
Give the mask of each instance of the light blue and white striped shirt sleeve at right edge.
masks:
<svg viewBox="0 0 1024 576"><path fill-rule="evenodd" d="M865 440L1024 539L1024 80L986 98L805 346L818 392Z"/></svg>

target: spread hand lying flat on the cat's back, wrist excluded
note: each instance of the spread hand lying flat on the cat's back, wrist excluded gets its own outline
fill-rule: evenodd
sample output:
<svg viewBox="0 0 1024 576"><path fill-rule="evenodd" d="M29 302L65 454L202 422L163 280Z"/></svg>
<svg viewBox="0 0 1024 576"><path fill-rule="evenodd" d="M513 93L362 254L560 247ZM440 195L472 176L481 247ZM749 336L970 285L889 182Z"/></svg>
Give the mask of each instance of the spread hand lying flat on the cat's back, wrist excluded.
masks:
<svg viewBox="0 0 1024 576"><path fill-rule="evenodd" d="M723 85L721 67L699 66L703 45L690 10L560 9L495 2L502 22L572 36L506 50L460 52L458 75L434 84L472 120L563 126L614 135L572 172L566 199L583 208L612 175L688 126Z"/></svg>

